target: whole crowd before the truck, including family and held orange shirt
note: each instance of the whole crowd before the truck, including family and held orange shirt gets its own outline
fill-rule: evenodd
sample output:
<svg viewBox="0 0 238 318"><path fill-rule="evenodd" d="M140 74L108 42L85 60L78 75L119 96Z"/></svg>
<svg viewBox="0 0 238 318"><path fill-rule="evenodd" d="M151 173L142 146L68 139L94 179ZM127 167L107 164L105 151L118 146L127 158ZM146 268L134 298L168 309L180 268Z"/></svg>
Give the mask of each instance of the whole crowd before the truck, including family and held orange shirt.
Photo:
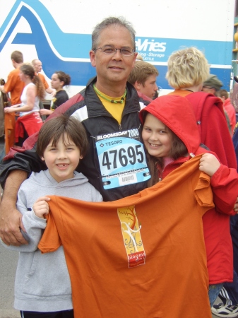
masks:
<svg viewBox="0 0 238 318"><path fill-rule="evenodd" d="M124 18L95 26L97 76L72 98L69 74L49 88L40 60L11 56L0 237L20 252L22 318L238 315L234 107L195 47L171 54L174 91L156 98L135 34Z"/></svg>

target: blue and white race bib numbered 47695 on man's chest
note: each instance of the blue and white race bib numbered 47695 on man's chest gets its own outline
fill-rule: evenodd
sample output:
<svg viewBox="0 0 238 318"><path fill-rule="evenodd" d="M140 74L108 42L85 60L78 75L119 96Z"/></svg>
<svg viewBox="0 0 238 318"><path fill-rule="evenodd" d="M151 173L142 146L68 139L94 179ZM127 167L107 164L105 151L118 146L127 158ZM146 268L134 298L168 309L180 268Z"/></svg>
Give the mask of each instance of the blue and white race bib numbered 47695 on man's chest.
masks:
<svg viewBox="0 0 238 318"><path fill-rule="evenodd" d="M150 179L138 129L97 136L96 148L104 189Z"/></svg>

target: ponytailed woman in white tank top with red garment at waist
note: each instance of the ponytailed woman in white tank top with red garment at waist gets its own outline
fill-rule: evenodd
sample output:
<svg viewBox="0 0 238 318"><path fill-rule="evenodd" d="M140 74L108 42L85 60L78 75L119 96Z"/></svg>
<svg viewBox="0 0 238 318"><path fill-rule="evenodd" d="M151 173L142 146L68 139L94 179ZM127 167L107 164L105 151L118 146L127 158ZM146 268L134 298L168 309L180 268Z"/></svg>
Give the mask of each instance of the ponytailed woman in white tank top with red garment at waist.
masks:
<svg viewBox="0 0 238 318"><path fill-rule="evenodd" d="M20 112L16 121L15 144L23 146L23 142L28 136L35 134L42 126L40 118L39 102L44 98L44 86L40 78L35 76L35 70L31 65L20 66L20 80L25 83L25 88L20 96L21 104L6 107L5 113Z"/></svg>

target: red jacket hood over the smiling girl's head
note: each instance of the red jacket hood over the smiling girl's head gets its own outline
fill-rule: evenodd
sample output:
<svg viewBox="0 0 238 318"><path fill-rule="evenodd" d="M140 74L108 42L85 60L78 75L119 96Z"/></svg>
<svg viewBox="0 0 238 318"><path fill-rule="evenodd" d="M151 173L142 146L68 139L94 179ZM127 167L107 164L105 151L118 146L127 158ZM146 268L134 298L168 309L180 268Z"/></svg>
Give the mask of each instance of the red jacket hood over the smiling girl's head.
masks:
<svg viewBox="0 0 238 318"><path fill-rule="evenodd" d="M196 153L201 143L196 117L191 103L177 95L163 95L141 110L139 116L144 124L145 112L153 114L169 127L185 144L190 153Z"/></svg>

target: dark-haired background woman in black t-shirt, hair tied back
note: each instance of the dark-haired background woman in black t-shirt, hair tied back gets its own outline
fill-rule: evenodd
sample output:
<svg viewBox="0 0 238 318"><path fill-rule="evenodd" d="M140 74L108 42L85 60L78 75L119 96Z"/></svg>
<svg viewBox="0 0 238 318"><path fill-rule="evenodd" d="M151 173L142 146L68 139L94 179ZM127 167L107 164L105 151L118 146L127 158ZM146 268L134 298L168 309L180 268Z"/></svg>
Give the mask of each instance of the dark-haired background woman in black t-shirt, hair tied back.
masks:
<svg viewBox="0 0 238 318"><path fill-rule="evenodd" d="M69 86L71 82L71 77L62 71L56 71L52 75L52 88L56 90L56 95L52 99L52 104L50 105L50 110L42 109L40 110L41 115L49 115L56 110L61 104L64 104L69 100L69 96L63 89L64 86Z"/></svg>

